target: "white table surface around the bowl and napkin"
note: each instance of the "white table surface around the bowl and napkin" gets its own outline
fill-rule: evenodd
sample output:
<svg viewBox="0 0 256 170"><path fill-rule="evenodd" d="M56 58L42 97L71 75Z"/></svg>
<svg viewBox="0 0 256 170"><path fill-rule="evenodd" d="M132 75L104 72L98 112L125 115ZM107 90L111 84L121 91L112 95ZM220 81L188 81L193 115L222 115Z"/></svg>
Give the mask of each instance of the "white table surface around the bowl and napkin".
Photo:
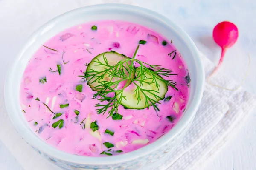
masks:
<svg viewBox="0 0 256 170"><path fill-rule="evenodd" d="M8 65L26 38L53 17L86 4L102 0L0 0L0 90ZM198 49L217 63L220 48L212 40L218 22L230 20L239 27L239 41L227 51L223 68L241 81L250 53L251 65L243 87L256 94L256 0L104 0L106 3L132 3L157 11L180 25ZM46 15L41 15L45 12ZM12 36L19 32L19 37ZM0 142L0 169L22 170L9 150ZM236 130L224 147L202 170L256 170L256 109Z"/></svg>

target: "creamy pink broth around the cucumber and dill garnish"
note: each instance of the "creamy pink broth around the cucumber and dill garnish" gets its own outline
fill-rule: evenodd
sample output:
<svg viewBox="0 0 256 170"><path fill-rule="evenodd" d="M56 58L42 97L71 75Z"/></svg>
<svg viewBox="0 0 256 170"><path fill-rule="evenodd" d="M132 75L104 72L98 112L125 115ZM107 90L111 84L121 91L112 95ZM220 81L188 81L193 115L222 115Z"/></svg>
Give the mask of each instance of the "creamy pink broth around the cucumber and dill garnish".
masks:
<svg viewBox="0 0 256 170"><path fill-rule="evenodd" d="M93 25L97 26L97 30L91 29ZM85 79L79 77L84 75L86 63L89 64L98 54L111 50L132 57L140 40L145 40L146 44L140 45L136 59L172 69L178 76L169 79L177 82L178 91L168 88L165 100L169 96L172 98L160 101L160 111L155 111L153 107L125 109L121 105L118 111L123 116L122 120L107 118L108 113L97 114L95 104L99 100L92 99L96 92ZM162 45L163 40L167 45ZM44 45L58 51L41 46L29 60L21 82L20 103L31 129L53 147L80 156L108 156L100 154L103 151L117 155L154 142L177 124L189 97L186 64L178 51L175 51L175 57L175 53L168 55L176 49L172 45L175 42L170 42L149 28L123 21L84 23L52 37ZM61 64L61 75L58 74L57 64ZM50 68L57 72L49 71ZM47 79L44 84L39 82L43 77ZM83 85L82 92L76 91L79 84ZM53 119L55 115L43 103L54 113L63 114ZM60 108L60 104L67 103L68 107ZM78 116L75 110L80 112ZM167 116L171 116L173 121ZM60 119L64 120L63 127L53 128L52 124ZM90 127L85 127L86 121L91 123L95 120L99 126L96 133L100 138L92 136ZM114 135L104 133L106 129L113 131ZM105 142L114 145L109 148L111 151L107 151ZM123 152L116 153L116 150Z"/></svg>

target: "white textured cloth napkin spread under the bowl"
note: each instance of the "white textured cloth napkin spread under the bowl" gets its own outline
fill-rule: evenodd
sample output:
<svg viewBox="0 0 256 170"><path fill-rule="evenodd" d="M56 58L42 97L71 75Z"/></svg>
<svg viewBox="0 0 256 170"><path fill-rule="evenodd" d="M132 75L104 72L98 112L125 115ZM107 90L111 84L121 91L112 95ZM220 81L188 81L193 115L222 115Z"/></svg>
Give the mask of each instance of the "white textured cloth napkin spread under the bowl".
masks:
<svg viewBox="0 0 256 170"><path fill-rule="evenodd" d="M206 75L214 65L203 54ZM215 84L235 88L236 82L218 72L212 77ZM43 159L20 137L5 109L3 91L0 92L0 140L9 148L24 170L59 170ZM206 83L204 96L197 115L177 150L163 162L150 164L154 170L192 170L206 162L239 127L256 105L256 96L242 88L236 91L222 90ZM36 168L35 168L36 167ZM145 167L148 170L149 167Z"/></svg>

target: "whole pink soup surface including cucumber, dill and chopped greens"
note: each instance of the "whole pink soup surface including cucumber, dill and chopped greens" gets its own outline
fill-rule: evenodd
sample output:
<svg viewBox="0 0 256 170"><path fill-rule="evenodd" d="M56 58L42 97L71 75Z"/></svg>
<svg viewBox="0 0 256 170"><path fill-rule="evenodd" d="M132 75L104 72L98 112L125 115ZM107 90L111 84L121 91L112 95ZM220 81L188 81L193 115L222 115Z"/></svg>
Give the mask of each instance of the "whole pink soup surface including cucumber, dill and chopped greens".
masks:
<svg viewBox="0 0 256 170"><path fill-rule="evenodd" d="M67 153L111 156L150 144L177 124L189 97L189 72L173 44L123 21L64 30L26 66L20 87L23 114L36 135ZM125 62L116 67L120 61ZM110 72L113 67L119 72ZM97 75L102 79L93 78Z"/></svg>

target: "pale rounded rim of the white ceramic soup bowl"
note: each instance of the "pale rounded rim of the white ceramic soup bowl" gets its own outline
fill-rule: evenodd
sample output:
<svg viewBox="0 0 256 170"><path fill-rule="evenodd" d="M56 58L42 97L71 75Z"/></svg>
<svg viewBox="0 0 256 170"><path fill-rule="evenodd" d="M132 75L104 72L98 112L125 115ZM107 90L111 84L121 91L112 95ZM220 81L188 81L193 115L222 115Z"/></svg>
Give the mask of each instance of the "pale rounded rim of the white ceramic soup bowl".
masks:
<svg viewBox="0 0 256 170"><path fill-rule="evenodd" d="M148 144L147 146L141 147L140 149L134 150L129 153L117 155L117 156L105 156L105 157L86 157L86 156L77 156L74 154L66 153L64 151L58 150L55 147L50 146L49 144L43 142L41 139L35 139L35 137L30 136L26 134L26 129L20 129L18 120L15 119L14 114L12 114L12 111L14 109L11 105L7 105L7 102L12 101L11 95L8 93L9 91L9 85L12 83L11 75L15 74L14 69L15 66L18 63L18 59L20 59L23 56L24 51L27 50L29 47L29 42L33 40L44 28L46 28L48 25L54 23L61 17L65 17L68 15L71 15L73 13L84 11L90 8L121 8L125 10L130 11L140 11L143 12L146 15L153 15L154 17L161 19L163 22L165 22L168 26L172 27L175 31L177 31L180 34L180 37L184 40L186 45L191 51L192 57L195 59L196 67L197 67L197 74L198 74L198 88L195 90L195 96L193 98L193 101L191 102L191 106L187 108L186 114L182 116L179 123L173 127L172 130L170 130L168 133L166 133L163 137L160 139L157 139L155 142L152 142L151 144ZM5 102L6 102L6 109L8 111L9 118L11 119L13 125L15 126L18 133L20 133L20 136L23 137L23 139L31 144L33 147L37 148L43 153L46 153L49 156L52 156L53 158L60 159L62 161L72 162L76 164L87 164L87 165L109 165L109 164L118 164L121 162L131 161L135 160L137 158L143 157L145 155L148 155L149 153L152 153L153 151L159 149L161 146L165 145L167 142L169 142L171 139L175 138L177 134L179 134L185 125L188 124L188 122L191 119L194 119L195 113L198 109L198 106L201 102L201 98L203 96L203 90L204 90L204 67L203 62L201 60L200 54L198 49L196 48L194 42L191 40L188 34L186 34L185 31L183 31L182 28L177 26L175 23L173 23L168 18L164 17L161 14L158 14L155 11L151 11L146 8L133 6L133 5L127 5L127 4L114 4L114 3L108 3L108 4L99 4L99 5L92 5L92 6L86 6L77 8L71 11L68 11L64 14L61 14L52 20L49 20L47 23L45 23L43 26L38 28L24 43L22 50L20 53L15 57L14 62L9 67L9 70L6 74L6 81L5 81L5 87L4 87L4 96L5 96ZM38 143L39 141L39 143Z"/></svg>

